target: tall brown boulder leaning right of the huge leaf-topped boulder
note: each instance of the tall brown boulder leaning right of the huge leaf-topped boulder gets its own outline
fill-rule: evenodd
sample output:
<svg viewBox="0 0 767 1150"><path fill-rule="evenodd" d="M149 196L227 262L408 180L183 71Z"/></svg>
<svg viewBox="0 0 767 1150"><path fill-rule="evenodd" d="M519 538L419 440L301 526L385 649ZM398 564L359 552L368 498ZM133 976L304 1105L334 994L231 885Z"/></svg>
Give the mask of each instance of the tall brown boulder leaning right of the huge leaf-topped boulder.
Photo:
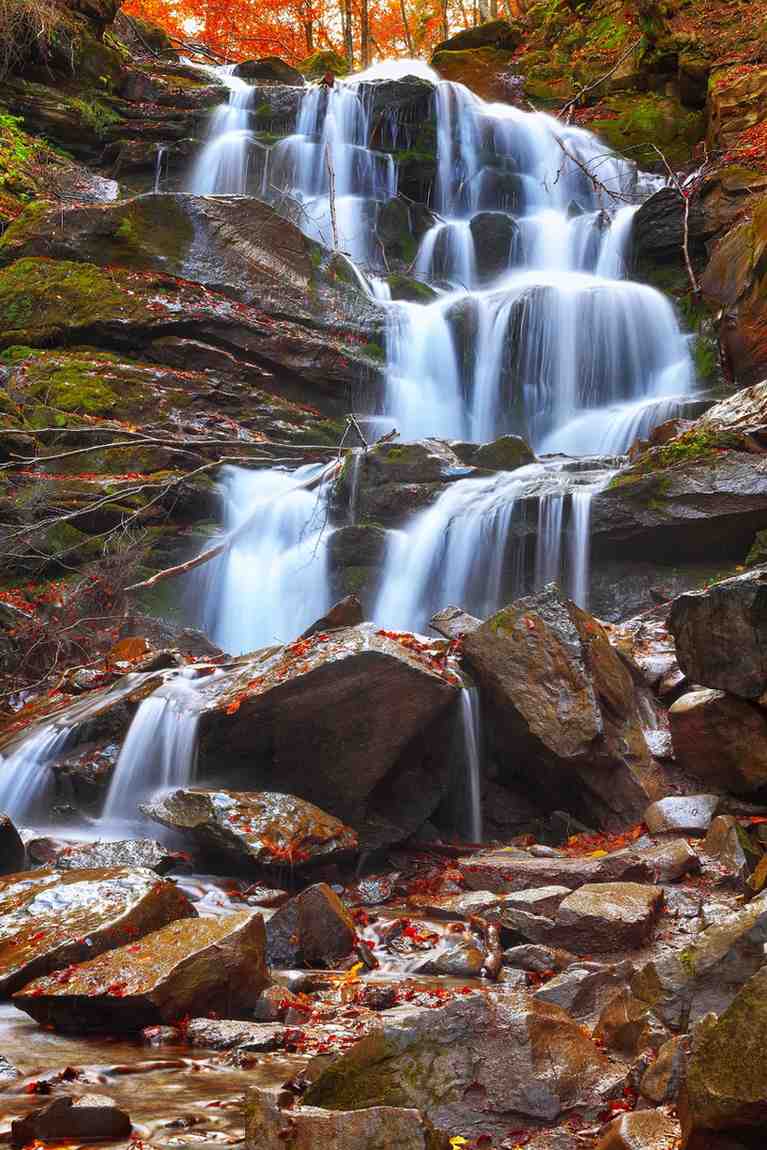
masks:
<svg viewBox="0 0 767 1150"><path fill-rule="evenodd" d="M547 805L558 791L588 793L584 812L604 822L639 816L657 797L630 672L601 623L553 585L467 635L463 653L496 757L509 773L523 764Z"/></svg>

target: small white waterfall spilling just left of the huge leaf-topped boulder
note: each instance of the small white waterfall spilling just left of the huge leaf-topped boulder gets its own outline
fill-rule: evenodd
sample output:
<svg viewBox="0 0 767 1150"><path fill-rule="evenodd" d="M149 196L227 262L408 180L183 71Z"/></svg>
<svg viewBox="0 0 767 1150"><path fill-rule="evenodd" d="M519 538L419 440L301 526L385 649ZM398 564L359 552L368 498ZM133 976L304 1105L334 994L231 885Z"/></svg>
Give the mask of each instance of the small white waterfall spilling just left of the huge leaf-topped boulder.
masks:
<svg viewBox="0 0 767 1150"><path fill-rule="evenodd" d="M198 682L183 673L144 699L115 764L105 822L133 820L149 795L192 782L200 704Z"/></svg>

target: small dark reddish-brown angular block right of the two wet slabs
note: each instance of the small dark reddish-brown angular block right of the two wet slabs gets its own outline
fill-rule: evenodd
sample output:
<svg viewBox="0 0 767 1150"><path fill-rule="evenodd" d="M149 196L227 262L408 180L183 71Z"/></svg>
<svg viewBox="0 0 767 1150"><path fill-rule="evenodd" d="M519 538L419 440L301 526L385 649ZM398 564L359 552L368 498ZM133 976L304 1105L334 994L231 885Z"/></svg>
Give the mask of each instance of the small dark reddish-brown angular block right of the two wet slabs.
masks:
<svg viewBox="0 0 767 1150"><path fill-rule="evenodd" d="M335 966L355 942L354 920L324 882L307 887L267 922L269 966Z"/></svg>

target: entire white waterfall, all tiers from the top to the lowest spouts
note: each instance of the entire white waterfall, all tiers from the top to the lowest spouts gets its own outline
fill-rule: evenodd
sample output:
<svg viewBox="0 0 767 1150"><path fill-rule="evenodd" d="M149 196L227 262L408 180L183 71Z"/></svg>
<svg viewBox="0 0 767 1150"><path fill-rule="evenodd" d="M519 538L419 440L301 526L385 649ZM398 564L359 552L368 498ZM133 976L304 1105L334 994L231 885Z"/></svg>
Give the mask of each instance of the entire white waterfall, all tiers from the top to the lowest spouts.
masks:
<svg viewBox="0 0 767 1150"><path fill-rule="evenodd" d="M446 482L431 506L389 532L374 619L424 630L448 604L486 616L551 581L586 606L591 501L614 457L676 415L695 389L670 302L627 278L632 216L659 181L590 132L486 103L417 61L376 66L331 90L301 90L294 132L271 143L256 131L255 89L231 68L212 71L229 100L212 116L189 190L259 197L348 256L382 312L385 340L383 386L359 417L396 427L404 440L520 435L539 457L513 471ZM414 146L413 125L400 124L393 106L374 117L376 84L413 75L432 85L432 215L408 269L429 285L428 302L392 299L376 235L398 192L392 153ZM376 150L374 139L391 151ZM159 154L156 187L161 178ZM412 206L406 212L414 224ZM240 534L190 581L199 622L225 651L289 642L324 614L330 538L356 522L363 466L360 454L347 463L343 514L330 485L314 482L320 465L292 474L225 469L223 526ZM130 816L153 790L193 779L198 713L194 682L182 676L139 706L107 825ZM460 720L465 821L478 839L474 689L462 692ZM48 766L70 735L55 723L40 727L0 761L0 808L37 815Z"/></svg>

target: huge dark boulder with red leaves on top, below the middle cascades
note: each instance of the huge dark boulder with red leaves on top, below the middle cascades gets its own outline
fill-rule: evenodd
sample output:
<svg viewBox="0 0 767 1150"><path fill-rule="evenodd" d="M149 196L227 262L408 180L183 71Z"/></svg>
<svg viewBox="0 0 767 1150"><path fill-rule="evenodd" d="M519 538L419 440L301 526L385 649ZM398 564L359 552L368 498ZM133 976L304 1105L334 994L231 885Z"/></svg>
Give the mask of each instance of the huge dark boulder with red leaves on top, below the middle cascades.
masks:
<svg viewBox="0 0 767 1150"><path fill-rule="evenodd" d="M365 623L240 660L202 691L200 775L298 795L362 845L404 837L450 783L446 647Z"/></svg>

